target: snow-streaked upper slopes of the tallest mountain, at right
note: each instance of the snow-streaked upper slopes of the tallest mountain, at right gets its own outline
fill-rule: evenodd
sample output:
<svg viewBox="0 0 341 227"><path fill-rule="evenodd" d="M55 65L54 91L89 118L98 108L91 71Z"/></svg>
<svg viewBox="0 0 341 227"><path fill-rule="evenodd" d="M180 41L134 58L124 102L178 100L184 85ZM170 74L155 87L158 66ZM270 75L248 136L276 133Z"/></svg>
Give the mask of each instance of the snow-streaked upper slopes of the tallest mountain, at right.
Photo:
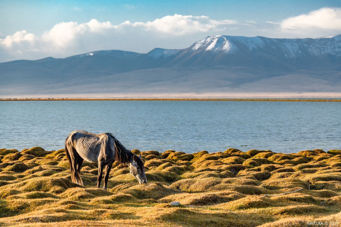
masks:
<svg viewBox="0 0 341 227"><path fill-rule="evenodd" d="M231 50L245 51L273 51L282 53L286 57L302 55L341 55L341 35L322 38L267 38L262 36L228 36L212 35L196 41L190 46L193 52Z"/></svg>

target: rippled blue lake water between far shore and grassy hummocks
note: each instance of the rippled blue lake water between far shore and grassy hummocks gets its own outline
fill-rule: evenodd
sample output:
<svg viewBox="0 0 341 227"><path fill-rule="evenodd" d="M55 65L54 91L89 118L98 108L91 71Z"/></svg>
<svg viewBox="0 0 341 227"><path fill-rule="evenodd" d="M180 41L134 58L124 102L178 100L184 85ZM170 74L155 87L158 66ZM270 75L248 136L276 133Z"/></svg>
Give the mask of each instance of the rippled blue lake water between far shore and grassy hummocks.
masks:
<svg viewBox="0 0 341 227"><path fill-rule="evenodd" d="M59 149L84 129L140 150L341 149L340 102L1 101L0 109L6 148Z"/></svg>

